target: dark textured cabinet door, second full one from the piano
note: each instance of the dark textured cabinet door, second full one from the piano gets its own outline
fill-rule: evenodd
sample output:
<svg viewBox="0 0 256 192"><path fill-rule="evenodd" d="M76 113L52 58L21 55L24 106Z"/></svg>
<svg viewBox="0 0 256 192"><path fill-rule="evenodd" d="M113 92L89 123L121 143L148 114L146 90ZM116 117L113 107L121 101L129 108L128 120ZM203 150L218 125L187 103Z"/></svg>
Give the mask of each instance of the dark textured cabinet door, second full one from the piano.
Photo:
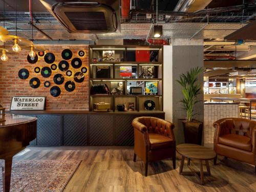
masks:
<svg viewBox="0 0 256 192"><path fill-rule="evenodd" d="M63 115L63 145L87 145L88 115Z"/></svg>

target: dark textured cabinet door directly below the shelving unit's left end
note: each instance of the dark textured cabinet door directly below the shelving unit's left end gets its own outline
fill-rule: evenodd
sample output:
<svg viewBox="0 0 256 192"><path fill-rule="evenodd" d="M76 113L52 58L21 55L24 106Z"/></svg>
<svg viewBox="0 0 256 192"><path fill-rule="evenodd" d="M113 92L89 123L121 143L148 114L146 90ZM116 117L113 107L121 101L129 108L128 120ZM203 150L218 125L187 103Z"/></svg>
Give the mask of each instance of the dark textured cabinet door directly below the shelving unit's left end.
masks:
<svg viewBox="0 0 256 192"><path fill-rule="evenodd" d="M114 115L89 116L89 145L114 145Z"/></svg>

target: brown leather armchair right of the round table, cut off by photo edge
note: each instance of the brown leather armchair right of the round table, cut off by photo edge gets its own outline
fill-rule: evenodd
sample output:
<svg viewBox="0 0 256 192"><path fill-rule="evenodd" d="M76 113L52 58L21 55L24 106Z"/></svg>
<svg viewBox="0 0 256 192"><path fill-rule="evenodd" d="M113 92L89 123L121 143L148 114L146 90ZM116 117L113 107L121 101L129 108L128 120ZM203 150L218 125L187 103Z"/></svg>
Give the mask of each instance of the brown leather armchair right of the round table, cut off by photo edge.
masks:
<svg viewBox="0 0 256 192"><path fill-rule="evenodd" d="M256 121L225 118L214 122L214 150L216 154L255 166ZM215 158L215 164L217 157Z"/></svg>

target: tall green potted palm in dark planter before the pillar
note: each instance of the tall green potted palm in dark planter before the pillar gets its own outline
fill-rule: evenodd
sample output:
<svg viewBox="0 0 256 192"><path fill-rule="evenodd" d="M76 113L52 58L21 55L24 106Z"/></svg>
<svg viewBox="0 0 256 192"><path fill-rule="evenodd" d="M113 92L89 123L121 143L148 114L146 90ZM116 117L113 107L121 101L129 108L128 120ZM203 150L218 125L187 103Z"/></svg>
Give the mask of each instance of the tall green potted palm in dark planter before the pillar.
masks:
<svg viewBox="0 0 256 192"><path fill-rule="evenodd" d="M201 84L198 83L198 76L203 73L204 68L193 68L186 74L181 74L176 80L182 87L184 98L181 100L186 111L186 119L181 119L184 129L185 143L202 144L203 123L193 119L194 106L201 101L197 98L201 91Z"/></svg>

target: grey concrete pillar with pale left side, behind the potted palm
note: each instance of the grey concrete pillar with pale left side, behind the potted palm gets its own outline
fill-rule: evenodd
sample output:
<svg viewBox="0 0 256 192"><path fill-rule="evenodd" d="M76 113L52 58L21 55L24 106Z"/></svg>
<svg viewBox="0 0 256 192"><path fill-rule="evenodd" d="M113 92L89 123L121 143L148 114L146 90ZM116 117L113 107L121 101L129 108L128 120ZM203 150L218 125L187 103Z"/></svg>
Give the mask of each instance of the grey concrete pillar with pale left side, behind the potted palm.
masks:
<svg viewBox="0 0 256 192"><path fill-rule="evenodd" d="M177 144L184 142L182 124L178 119L185 119L186 113L180 100L183 98L181 87L176 79L180 74L186 73L195 67L203 67L203 39L173 39L172 46L164 46L164 107L165 119L175 124L175 137ZM203 74L199 77L203 89ZM195 106L194 118L203 122L204 105L203 93L198 97L201 102Z"/></svg>

